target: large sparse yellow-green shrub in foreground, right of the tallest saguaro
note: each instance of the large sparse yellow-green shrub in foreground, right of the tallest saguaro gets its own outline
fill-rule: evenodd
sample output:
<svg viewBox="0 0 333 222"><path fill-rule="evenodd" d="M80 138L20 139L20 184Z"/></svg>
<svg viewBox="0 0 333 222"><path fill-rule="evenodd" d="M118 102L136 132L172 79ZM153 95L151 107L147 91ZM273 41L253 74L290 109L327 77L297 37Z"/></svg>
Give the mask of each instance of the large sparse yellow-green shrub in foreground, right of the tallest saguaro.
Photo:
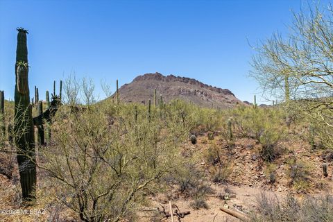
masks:
<svg viewBox="0 0 333 222"><path fill-rule="evenodd" d="M133 218L154 183L182 167L180 144L189 131L179 119L166 123L140 117L130 126L133 105L121 104L114 112L110 103L89 101L82 112L70 112L65 104L53 119L53 142L40 150L37 163L49 180L41 189L52 189L48 198L82 221Z"/></svg>

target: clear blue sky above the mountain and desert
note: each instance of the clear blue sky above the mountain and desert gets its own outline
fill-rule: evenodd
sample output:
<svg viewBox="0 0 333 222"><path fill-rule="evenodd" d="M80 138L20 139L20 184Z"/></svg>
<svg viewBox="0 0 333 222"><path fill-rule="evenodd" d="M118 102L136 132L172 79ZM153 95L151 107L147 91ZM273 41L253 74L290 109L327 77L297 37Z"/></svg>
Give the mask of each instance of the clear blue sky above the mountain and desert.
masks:
<svg viewBox="0 0 333 222"><path fill-rule="evenodd" d="M323 2L323 1L322 1ZM13 98L17 27L28 29L31 97L44 99L53 80L91 77L115 88L137 75L196 78L228 88L241 100L260 96L247 77L248 45L287 32L302 0L5 1L0 0L0 90ZM248 40L247 40L248 39Z"/></svg>

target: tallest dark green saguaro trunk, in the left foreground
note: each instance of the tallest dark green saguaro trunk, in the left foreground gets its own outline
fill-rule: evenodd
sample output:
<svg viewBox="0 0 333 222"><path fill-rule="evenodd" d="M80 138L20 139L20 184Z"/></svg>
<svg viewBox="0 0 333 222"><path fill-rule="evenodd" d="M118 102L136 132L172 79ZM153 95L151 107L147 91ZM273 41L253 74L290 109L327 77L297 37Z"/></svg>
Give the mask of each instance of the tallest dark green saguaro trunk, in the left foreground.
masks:
<svg viewBox="0 0 333 222"><path fill-rule="evenodd" d="M35 135L28 85L28 49L24 28L17 28L14 139L24 203L35 198Z"/></svg>

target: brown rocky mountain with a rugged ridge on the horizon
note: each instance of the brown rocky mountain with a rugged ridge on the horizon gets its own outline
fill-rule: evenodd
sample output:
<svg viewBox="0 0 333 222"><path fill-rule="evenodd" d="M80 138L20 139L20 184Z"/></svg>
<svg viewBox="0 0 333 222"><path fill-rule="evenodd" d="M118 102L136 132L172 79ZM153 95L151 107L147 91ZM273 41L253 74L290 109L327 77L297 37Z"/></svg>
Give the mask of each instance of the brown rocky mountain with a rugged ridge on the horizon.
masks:
<svg viewBox="0 0 333 222"><path fill-rule="evenodd" d="M163 101L183 99L192 101L202 107L232 108L237 104L245 104L234 96L229 89L212 87L194 78L180 76L163 76L160 73L137 76L132 83L122 85L119 98L125 102L153 103L154 91L157 99L162 95ZM112 95L112 96L115 96Z"/></svg>

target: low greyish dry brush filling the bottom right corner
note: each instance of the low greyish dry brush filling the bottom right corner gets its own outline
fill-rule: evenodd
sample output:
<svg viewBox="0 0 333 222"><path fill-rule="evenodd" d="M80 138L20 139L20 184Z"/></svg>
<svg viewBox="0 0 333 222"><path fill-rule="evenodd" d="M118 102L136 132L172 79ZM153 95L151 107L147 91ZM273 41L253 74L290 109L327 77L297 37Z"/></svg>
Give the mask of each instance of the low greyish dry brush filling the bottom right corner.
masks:
<svg viewBox="0 0 333 222"><path fill-rule="evenodd" d="M257 196L256 208L256 211L250 214L250 221L333 221L332 196L305 196L302 200L297 200L289 194L279 201L276 196L269 198L262 193Z"/></svg>

